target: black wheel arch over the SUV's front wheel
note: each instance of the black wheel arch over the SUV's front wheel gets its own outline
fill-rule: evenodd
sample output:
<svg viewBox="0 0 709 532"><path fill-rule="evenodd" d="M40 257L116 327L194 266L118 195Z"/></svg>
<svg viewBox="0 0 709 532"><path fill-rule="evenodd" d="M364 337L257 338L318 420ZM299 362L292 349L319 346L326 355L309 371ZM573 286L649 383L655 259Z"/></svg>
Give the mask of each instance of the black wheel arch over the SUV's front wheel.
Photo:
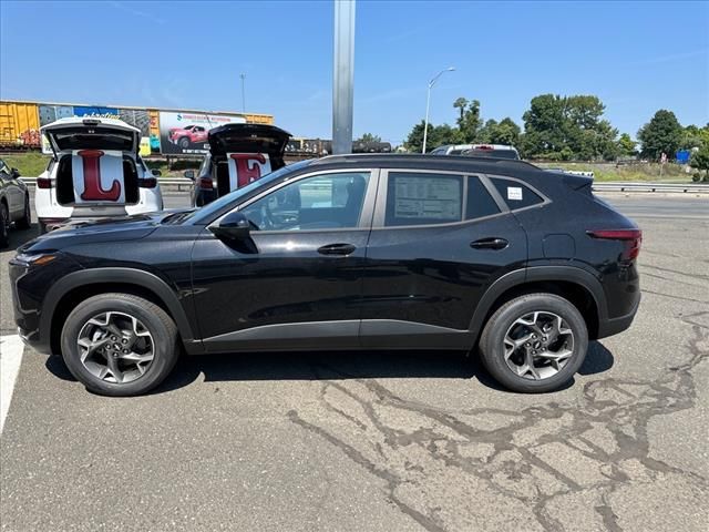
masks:
<svg viewBox="0 0 709 532"><path fill-rule="evenodd" d="M83 269L52 285L43 305L41 336L49 338L52 352L60 352L61 330L66 316L89 297L120 291L143 297L163 308L175 321L183 344L194 344L195 334L175 291L154 274L132 268ZM47 335L47 336L45 336Z"/></svg>

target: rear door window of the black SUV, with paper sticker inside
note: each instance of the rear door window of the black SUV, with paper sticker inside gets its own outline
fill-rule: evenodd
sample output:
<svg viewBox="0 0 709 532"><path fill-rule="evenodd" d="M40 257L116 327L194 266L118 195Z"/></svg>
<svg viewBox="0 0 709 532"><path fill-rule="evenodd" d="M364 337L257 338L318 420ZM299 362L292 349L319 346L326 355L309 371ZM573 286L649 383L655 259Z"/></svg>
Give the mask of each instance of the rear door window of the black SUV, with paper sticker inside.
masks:
<svg viewBox="0 0 709 532"><path fill-rule="evenodd" d="M434 173L391 172L384 225L450 224L463 212L463 177Z"/></svg>

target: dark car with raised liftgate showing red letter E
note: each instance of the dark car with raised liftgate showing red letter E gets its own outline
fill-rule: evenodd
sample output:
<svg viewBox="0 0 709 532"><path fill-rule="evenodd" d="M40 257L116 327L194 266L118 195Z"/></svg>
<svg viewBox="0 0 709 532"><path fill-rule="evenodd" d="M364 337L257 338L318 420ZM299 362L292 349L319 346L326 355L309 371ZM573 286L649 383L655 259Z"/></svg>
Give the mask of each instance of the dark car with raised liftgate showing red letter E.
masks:
<svg viewBox="0 0 709 532"><path fill-rule="evenodd" d="M193 180L192 205L202 206L286 165L290 133L265 124L225 124L209 130L209 153Z"/></svg>

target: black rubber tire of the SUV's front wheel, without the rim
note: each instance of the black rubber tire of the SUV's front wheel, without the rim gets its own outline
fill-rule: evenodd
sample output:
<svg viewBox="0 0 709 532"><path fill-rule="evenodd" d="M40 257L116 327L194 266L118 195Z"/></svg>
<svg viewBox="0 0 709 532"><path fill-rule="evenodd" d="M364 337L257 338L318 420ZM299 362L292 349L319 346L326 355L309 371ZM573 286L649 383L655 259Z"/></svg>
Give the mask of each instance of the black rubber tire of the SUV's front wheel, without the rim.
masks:
<svg viewBox="0 0 709 532"><path fill-rule="evenodd" d="M79 335L88 320L101 313L123 313L137 318L152 335L154 358L145 372L130 382L109 382L94 376L81 361ZM147 392L172 371L181 352L177 327L157 305L130 294L101 294L76 305L62 329L62 357L71 374L88 390L102 396L127 397Z"/></svg>

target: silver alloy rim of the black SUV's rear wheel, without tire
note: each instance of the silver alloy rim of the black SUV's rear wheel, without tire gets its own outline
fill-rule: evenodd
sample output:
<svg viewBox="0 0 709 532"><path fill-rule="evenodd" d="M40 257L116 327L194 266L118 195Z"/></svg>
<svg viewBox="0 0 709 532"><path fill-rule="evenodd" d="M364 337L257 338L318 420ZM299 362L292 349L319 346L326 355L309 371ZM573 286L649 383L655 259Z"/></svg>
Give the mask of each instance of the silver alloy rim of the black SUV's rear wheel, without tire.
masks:
<svg viewBox="0 0 709 532"><path fill-rule="evenodd" d="M503 341L507 367L530 380L555 376L574 355L573 330L564 318L548 311L517 318Z"/></svg>

